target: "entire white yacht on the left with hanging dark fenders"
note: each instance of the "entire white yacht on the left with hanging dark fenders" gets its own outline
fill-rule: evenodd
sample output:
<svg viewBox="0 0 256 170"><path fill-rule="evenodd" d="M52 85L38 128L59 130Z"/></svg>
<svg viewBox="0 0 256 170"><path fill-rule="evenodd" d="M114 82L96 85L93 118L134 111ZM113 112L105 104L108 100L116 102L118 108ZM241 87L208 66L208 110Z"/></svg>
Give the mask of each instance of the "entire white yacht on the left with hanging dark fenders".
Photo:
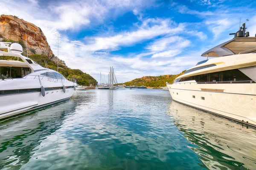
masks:
<svg viewBox="0 0 256 170"><path fill-rule="evenodd" d="M69 99L76 80L66 79L57 71L44 68L21 55L22 46L0 42L0 56L18 61L0 60L0 119Z"/></svg>

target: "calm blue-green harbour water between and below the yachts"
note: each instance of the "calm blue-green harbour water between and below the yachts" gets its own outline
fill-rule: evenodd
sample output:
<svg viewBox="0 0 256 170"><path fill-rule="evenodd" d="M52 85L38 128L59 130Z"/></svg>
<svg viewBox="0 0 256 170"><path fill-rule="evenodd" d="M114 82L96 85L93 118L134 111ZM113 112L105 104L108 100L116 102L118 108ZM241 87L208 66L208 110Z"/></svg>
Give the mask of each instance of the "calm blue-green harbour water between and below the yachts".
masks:
<svg viewBox="0 0 256 170"><path fill-rule="evenodd" d="M256 130L169 91L87 90L0 122L0 169L256 169Z"/></svg>

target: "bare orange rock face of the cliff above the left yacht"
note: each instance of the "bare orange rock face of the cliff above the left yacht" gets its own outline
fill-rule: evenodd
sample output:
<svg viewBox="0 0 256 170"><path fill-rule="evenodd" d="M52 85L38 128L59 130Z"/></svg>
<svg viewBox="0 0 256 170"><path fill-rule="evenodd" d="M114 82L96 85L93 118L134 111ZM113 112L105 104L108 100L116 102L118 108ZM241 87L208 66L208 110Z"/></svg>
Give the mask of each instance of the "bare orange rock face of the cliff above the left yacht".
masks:
<svg viewBox="0 0 256 170"><path fill-rule="evenodd" d="M52 50L42 30L32 23L12 15L2 14L0 17L0 35L13 41L22 40L28 43L28 54L44 54L52 57Z"/></svg>

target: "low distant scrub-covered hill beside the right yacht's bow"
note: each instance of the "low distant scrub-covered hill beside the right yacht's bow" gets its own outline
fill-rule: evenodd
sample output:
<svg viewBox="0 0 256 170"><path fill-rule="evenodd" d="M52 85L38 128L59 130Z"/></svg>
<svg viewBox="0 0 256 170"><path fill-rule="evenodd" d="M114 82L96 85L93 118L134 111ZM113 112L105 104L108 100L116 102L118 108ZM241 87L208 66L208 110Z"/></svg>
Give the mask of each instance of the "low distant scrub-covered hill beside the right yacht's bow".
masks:
<svg viewBox="0 0 256 170"><path fill-rule="evenodd" d="M185 71L182 71L180 74L169 74L169 75L163 75L163 76L145 76L138 79L131 80L129 82L125 82L124 84L127 86L130 85L145 85L146 87L152 87L152 88L160 88L166 86L166 82L169 82L170 84L173 83L173 81L179 77L180 75L183 75Z"/></svg>

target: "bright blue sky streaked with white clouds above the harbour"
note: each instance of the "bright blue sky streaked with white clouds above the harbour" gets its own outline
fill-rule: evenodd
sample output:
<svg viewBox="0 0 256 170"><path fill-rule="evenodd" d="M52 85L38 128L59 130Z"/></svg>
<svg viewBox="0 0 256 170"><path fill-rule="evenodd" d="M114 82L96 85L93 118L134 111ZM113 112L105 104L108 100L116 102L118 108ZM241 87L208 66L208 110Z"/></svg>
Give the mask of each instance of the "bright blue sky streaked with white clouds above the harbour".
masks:
<svg viewBox="0 0 256 170"><path fill-rule="evenodd" d="M230 40L246 19L256 34L255 0L0 0L0 14L39 26L70 68L100 81L178 74Z"/></svg>

